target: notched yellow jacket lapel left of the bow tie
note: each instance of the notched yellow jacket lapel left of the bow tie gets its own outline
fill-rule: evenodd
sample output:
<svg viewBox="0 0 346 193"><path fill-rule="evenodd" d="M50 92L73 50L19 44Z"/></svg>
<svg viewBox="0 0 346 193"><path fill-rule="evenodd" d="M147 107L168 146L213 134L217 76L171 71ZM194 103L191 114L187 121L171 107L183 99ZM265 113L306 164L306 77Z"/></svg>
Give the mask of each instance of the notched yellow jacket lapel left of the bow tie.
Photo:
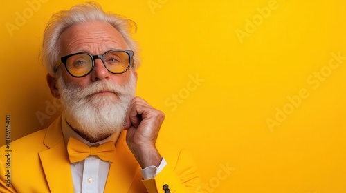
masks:
<svg viewBox="0 0 346 193"><path fill-rule="evenodd" d="M69 157L64 144L62 118L56 119L47 129L44 144L49 148L39 152L46 181L51 192L73 192Z"/></svg>

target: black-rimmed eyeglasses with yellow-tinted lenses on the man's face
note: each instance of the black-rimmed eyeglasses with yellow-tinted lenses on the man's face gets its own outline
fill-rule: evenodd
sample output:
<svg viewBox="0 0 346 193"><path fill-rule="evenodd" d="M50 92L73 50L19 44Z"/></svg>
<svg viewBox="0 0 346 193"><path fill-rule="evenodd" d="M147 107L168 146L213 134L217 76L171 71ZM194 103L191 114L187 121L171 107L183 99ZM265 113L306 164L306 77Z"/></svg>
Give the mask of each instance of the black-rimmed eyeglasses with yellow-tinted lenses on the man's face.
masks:
<svg viewBox="0 0 346 193"><path fill-rule="evenodd" d="M64 63L67 72L72 77L85 77L95 66L95 59L101 59L104 67L113 74L122 74L129 70L134 52L132 50L109 50L103 55L91 55L86 52L70 54L61 57L55 64L56 72L61 63Z"/></svg>

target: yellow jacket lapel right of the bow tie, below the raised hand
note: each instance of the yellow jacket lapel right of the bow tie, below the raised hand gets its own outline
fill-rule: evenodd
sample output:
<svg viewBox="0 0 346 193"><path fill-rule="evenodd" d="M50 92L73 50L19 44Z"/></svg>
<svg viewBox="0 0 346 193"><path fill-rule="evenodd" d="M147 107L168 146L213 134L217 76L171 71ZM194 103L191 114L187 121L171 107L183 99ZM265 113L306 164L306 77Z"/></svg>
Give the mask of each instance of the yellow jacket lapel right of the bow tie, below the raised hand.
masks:
<svg viewBox="0 0 346 193"><path fill-rule="evenodd" d="M140 166L126 144L126 131L123 131L116 143L116 155L109 168L104 192L129 192L138 170Z"/></svg>

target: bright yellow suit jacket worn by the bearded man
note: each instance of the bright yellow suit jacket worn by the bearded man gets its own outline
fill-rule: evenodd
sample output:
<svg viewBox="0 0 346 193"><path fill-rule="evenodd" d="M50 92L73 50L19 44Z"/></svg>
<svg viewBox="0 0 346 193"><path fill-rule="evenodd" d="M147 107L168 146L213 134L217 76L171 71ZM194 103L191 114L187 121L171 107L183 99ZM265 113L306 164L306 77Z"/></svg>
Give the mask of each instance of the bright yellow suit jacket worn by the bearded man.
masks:
<svg viewBox="0 0 346 193"><path fill-rule="evenodd" d="M176 150L170 144L158 145L167 161L165 168L154 179L143 181L141 168L127 147L125 136L126 132L122 132L116 143L116 156L104 192L165 192L163 185L168 185L170 192L180 193L195 192L200 187L192 158L185 150ZM13 141L12 152L6 150L6 145L0 148L0 192L73 192L61 116L48 128ZM10 153L10 159L4 156L6 153Z"/></svg>

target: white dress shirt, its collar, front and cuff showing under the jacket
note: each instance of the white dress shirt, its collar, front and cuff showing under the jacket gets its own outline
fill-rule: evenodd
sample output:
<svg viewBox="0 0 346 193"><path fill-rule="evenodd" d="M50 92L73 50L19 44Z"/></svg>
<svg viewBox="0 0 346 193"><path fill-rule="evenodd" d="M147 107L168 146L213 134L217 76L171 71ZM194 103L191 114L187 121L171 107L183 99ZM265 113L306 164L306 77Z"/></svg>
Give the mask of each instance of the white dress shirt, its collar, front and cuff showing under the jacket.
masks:
<svg viewBox="0 0 346 193"><path fill-rule="evenodd" d="M75 137L88 145L89 147L94 147L98 145L102 145L103 143L113 141L116 143L118 141L120 133L112 134L111 136L98 141L96 143L90 143L86 141L86 139L82 138L79 134L77 134L70 126L66 123L64 116L62 119L62 134L64 136L64 143L67 147L67 142L71 136ZM109 167L111 163L108 161L102 161L98 158L98 156L88 156L83 161L79 161L76 163L71 163L71 173L73 179L73 188L74 192L104 192L104 186L106 185L107 176L109 172ZM167 165L165 159L162 159L160 165L146 167L143 170L140 170L140 173L143 176L143 179L152 179L154 178L163 167Z"/></svg>

